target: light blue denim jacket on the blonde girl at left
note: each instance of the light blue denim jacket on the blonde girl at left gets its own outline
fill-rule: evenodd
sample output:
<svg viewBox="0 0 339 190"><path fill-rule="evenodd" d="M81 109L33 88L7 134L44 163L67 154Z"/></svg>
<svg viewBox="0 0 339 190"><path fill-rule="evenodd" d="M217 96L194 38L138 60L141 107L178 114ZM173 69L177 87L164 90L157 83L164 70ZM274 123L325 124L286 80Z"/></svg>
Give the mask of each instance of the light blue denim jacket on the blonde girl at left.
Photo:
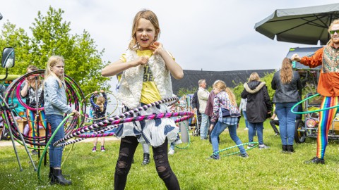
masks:
<svg viewBox="0 0 339 190"><path fill-rule="evenodd" d="M48 77L44 82L44 113L46 115L64 115L64 113L72 113L72 110L67 105L64 87L59 87L56 77Z"/></svg>

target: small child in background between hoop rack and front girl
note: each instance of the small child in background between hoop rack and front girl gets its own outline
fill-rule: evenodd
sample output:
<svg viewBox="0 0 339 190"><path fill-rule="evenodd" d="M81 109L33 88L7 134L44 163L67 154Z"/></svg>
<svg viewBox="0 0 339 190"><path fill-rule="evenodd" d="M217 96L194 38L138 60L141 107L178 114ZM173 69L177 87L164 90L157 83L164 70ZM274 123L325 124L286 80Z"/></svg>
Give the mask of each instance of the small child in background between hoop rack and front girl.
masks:
<svg viewBox="0 0 339 190"><path fill-rule="evenodd" d="M92 94L92 96L90 96L90 104L93 106L93 116L94 116L94 123L97 122L102 122L103 120L105 120L105 113L106 113L106 107L107 107L107 96L105 94L105 91L100 90L102 96L97 97L97 101L96 103L94 103L93 99L95 96L97 96L97 91L94 92L94 94ZM100 131L102 130L104 127L97 127L96 129L94 129L94 132ZM92 152L96 152L97 151L97 138L94 138L93 141L93 149ZM101 151L105 152L105 137L101 137Z"/></svg>

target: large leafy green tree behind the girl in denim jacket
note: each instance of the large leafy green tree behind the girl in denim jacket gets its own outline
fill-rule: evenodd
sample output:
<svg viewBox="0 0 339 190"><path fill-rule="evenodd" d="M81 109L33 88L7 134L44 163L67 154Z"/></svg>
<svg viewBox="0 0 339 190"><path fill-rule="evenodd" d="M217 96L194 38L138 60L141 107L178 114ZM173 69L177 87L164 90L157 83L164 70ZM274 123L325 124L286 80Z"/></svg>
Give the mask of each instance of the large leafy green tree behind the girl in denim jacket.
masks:
<svg viewBox="0 0 339 190"><path fill-rule="evenodd" d="M65 59L65 72L89 94L100 89L109 89L109 78L101 76L102 51L97 51L95 41L90 34L71 35L70 23L63 22L64 11L49 7L47 15L40 12L35 18L31 40L31 62L44 68L49 56L61 55Z"/></svg>

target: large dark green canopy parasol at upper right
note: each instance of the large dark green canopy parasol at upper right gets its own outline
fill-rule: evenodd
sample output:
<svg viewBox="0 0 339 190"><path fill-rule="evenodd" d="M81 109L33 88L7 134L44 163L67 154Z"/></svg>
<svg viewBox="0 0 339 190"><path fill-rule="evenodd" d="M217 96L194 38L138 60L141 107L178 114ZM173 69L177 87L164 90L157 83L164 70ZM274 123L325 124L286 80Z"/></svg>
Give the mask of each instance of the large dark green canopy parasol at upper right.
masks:
<svg viewBox="0 0 339 190"><path fill-rule="evenodd" d="M256 23L254 29L280 42L327 44L328 26L339 18L339 4L277 9Z"/></svg>

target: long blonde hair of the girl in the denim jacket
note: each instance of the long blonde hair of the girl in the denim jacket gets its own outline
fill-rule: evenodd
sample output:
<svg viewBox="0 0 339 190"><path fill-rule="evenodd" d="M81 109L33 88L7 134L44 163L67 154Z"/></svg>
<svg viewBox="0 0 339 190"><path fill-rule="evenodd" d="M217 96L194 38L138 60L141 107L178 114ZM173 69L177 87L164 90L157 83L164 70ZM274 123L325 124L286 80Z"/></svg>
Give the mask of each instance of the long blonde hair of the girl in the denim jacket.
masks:
<svg viewBox="0 0 339 190"><path fill-rule="evenodd" d="M57 80L58 80L58 83L59 83L59 87L64 87L66 89L66 84L65 84L65 75L61 75L60 77L58 77L57 75L55 75L54 72L52 72L51 68L54 66L54 65L57 65L57 63L59 62L62 62L65 64L65 61L64 61L64 58L61 57L61 56L51 56L49 59L48 59L48 62L47 62L47 67L46 67L46 70L44 71L44 82L46 82L47 78L48 77L56 77Z"/></svg>

